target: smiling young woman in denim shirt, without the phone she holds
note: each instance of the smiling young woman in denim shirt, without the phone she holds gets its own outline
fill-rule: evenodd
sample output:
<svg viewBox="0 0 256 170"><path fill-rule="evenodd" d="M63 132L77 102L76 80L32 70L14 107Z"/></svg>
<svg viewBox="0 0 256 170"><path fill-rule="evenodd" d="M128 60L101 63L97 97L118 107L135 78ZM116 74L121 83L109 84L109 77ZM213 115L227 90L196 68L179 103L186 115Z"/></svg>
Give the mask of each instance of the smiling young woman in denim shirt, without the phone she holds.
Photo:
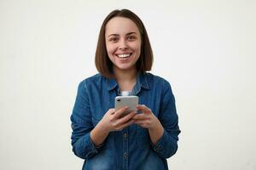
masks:
<svg viewBox="0 0 256 170"><path fill-rule="evenodd" d="M102 23L96 48L99 74L79 83L72 145L84 170L161 170L177 151L178 118L170 83L146 71L153 54L136 14L114 10ZM137 111L115 111L118 95L137 95Z"/></svg>

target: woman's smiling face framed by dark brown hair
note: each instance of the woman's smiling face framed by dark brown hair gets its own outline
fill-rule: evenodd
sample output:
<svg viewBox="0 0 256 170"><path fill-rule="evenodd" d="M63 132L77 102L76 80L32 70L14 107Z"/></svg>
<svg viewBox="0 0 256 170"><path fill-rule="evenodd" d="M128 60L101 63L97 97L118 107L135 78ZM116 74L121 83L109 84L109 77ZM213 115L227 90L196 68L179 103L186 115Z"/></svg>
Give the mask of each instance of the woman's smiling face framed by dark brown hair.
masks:
<svg viewBox="0 0 256 170"><path fill-rule="evenodd" d="M105 31L106 48L113 71L136 70L141 54L141 36L136 24L124 17L108 21Z"/></svg>

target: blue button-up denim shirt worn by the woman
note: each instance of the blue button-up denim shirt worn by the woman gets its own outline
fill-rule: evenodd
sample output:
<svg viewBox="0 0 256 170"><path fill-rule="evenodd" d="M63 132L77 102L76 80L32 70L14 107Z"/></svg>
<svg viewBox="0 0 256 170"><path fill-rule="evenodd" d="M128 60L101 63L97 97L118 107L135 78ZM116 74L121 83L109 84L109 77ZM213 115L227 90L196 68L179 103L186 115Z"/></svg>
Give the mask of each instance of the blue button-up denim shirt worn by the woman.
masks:
<svg viewBox="0 0 256 170"><path fill-rule="evenodd" d="M166 159L177 151L178 117L170 83L151 73L137 75L132 90L139 104L146 105L160 120L164 134L153 144L148 129L132 124L108 134L102 145L90 139L90 131L102 116L114 108L119 85L101 74L79 83L71 116L72 145L76 156L84 159L84 170L161 170L168 169ZM138 113L139 114L139 113Z"/></svg>

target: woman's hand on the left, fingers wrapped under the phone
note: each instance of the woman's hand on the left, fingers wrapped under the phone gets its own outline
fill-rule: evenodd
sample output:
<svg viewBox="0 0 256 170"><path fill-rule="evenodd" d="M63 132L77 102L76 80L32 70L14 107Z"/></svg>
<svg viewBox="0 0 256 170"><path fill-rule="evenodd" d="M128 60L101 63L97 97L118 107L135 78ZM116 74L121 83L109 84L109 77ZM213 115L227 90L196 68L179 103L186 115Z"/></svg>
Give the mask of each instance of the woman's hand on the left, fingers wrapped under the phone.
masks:
<svg viewBox="0 0 256 170"><path fill-rule="evenodd" d="M110 131L120 131L123 128L130 126L135 120L131 119L137 114L137 111L132 111L128 115L121 117L121 115L128 109L128 107L123 107L118 111L114 109L109 109L107 113L102 117L99 122L103 130L107 132Z"/></svg>

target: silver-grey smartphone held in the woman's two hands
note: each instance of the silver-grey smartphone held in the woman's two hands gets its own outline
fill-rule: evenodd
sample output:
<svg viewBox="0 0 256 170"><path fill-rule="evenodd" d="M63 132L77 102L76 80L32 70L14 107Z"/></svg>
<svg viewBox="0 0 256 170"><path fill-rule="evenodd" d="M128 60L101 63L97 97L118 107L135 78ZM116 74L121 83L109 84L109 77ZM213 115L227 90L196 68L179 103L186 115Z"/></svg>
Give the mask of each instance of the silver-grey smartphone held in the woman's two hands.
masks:
<svg viewBox="0 0 256 170"><path fill-rule="evenodd" d="M131 113L131 111L136 111L138 105L138 97L137 96L117 96L114 101L115 111L128 106L128 109L122 114L122 116L126 116Z"/></svg>

